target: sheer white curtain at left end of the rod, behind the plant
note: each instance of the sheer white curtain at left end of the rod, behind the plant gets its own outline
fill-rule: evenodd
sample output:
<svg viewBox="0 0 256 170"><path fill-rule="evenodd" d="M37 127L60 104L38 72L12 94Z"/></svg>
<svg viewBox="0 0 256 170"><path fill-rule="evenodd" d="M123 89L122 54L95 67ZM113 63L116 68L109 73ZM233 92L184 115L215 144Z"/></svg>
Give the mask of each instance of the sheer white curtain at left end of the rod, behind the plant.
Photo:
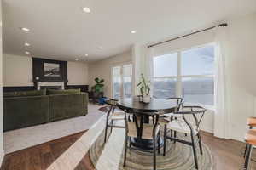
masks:
<svg viewBox="0 0 256 170"><path fill-rule="evenodd" d="M144 59L144 76L150 81L150 96L153 97L153 82L154 82L154 48L146 48L145 50L145 59Z"/></svg>

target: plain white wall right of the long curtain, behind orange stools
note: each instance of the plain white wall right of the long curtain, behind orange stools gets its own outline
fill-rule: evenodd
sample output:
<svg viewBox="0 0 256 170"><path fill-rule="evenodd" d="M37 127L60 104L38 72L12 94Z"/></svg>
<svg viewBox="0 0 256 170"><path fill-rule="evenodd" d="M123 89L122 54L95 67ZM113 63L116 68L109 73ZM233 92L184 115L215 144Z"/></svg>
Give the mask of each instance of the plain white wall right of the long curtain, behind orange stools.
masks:
<svg viewBox="0 0 256 170"><path fill-rule="evenodd" d="M229 21L230 57L227 59L231 136L243 140L246 120L256 105L256 13ZM254 116L255 113L254 113Z"/></svg>

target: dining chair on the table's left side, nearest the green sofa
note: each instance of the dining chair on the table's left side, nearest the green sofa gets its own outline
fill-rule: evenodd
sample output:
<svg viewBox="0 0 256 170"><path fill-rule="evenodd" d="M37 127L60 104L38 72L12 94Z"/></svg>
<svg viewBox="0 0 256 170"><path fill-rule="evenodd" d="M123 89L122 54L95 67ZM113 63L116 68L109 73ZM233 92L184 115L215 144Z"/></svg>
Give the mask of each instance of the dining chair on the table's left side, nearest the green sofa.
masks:
<svg viewBox="0 0 256 170"><path fill-rule="evenodd" d="M112 133L113 128L125 128L125 126L116 125L117 121L125 120L124 111L115 111L117 107L117 99L108 99L105 103L109 105L108 114L106 118L106 126L105 126L105 136L104 143L107 141L108 127L110 127L110 134Z"/></svg>

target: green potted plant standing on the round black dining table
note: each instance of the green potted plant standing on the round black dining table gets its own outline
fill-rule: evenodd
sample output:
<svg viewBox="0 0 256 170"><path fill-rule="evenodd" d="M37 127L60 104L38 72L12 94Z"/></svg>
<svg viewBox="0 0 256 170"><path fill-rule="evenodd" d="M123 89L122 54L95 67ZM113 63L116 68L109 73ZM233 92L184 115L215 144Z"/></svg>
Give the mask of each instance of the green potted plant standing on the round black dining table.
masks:
<svg viewBox="0 0 256 170"><path fill-rule="evenodd" d="M142 81L137 83L137 87L140 89L140 93L143 96L143 102L149 103L150 102L150 81L147 81L142 74Z"/></svg>

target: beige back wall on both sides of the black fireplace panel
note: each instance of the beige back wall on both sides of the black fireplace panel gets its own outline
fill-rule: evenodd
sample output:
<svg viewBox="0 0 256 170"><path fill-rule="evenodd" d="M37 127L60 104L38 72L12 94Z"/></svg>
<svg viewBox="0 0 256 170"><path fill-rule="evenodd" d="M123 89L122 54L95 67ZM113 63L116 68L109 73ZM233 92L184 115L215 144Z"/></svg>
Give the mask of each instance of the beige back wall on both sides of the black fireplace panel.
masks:
<svg viewBox="0 0 256 170"><path fill-rule="evenodd" d="M88 65L81 62L67 62L68 85L87 85ZM3 86L33 86L32 58L3 54Z"/></svg>

